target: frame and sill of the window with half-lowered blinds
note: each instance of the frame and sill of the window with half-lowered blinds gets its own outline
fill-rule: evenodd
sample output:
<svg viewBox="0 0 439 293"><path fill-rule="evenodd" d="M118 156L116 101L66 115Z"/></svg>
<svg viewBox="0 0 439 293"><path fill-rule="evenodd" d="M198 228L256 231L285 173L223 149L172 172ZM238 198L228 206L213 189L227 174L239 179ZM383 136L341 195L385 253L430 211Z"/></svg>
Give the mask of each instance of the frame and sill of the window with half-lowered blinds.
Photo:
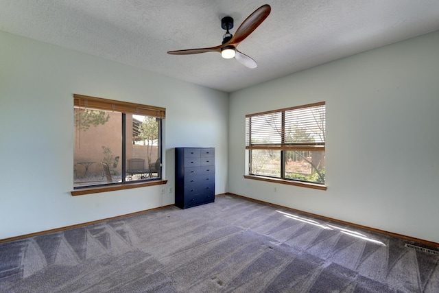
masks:
<svg viewBox="0 0 439 293"><path fill-rule="evenodd" d="M326 128L326 102L317 102L312 104L305 104L301 106L294 106L289 108L281 108L278 110L269 110L261 113L253 113L246 115L246 162L247 162L247 169L246 174L244 175L244 178L246 179L253 179L253 180L262 180L265 182L271 182L271 183L281 183L285 185L295 185L299 187L309 187L313 189L320 189L320 190L327 190L327 185L325 183L313 183L305 180L294 180L291 178L285 178L285 152L287 151L325 151L325 145L326 145L326 138L324 137L322 141L316 141L316 142L287 142L286 132L285 132L285 112L289 110L298 110L302 108L313 108L318 106L324 106L324 124ZM268 114L278 114L281 116L281 130L278 131L278 134L280 134L281 139L279 142L272 142L272 143L254 143L252 142L252 117L262 116L262 115L268 115ZM267 131L270 131L268 129ZM265 133L265 132L264 132ZM325 134L326 135L326 134ZM264 176L261 174L252 174L252 150L276 150L281 152L281 176Z"/></svg>

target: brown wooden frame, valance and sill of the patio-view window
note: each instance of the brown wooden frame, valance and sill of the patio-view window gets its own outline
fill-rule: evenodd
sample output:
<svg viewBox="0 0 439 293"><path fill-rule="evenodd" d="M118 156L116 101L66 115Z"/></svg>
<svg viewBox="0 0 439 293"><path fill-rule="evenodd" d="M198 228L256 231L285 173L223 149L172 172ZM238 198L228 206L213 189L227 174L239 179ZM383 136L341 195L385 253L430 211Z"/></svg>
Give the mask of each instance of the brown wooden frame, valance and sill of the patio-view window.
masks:
<svg viewBox="0 0 439 293"><path fill-rule="evenodd" d="M95 110L106 110L119 112L124 114L134 114L134 115L145 115L150 117L156 117L160 119L165 119L166 117L166 108L157 107L157 106L148 106L143 104L136 104L131 102L121 102L114 99L104 99L101 97L91 97L87 95L78 95L73 94L73 108L93 108ZM122 120L123 127L125 125L125 119ZM162 132L162 127L159 126L159 131ZM122 139L122 146L124 148L125 138ZM161 145L161 158L163 161L163 145ZM73 162L72 162L73 163ZM124 162L122 160L122 165L124 166ZM73 169L73 168L72 168ZM163 176L163 172L161 172ZM103 185L93 185L86 187L73 187L73 191L71 191L72 196L80 196L84 194L95 194L99 192L106 191L115 191L115 190L123 190L123 189L132 189L153 185L163 185L166 184L167 180L162 178L158 179L150 179L150 180L136 180L136 181L124 181L122 183L108 183Z"/></svg>

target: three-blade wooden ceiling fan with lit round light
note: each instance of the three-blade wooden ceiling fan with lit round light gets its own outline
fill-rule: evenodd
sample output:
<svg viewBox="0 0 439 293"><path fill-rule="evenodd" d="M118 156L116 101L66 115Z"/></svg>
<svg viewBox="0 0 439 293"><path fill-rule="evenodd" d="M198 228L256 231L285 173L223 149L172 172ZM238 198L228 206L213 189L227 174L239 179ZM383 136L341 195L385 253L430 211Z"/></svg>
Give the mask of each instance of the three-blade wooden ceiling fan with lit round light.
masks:
<svg viewBox="0 0 439 293"><path fill-rule="evenodd" d="M173 55L189 55L189 54L200 54L206 52L218 52L221 53L222 58L230 59L234 58L241 62L248 68L256 68L257 63L247 56L241 53L236 48L239 43L241 43L245 38L247 38L254 30L256 30L259 25L265 21L270 14L271 7L268 4L262 5L257 10L254 10L247 19L241 23L235 32L235 35L230 34L228 30L233 28L233 18L226 16L221 20L221 27L226 30L226 34L223 36L222 45L208 48L199 49L186 49L177 51L168 51L167 54Z"/></svg>

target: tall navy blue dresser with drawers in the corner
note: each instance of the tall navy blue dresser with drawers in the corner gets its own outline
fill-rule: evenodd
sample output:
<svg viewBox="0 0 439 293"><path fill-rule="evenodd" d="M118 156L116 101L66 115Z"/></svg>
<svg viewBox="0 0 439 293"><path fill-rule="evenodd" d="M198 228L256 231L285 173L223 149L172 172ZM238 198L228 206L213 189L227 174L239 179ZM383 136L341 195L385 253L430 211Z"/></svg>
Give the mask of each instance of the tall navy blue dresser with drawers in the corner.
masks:
<svg viewBox="0 0 439 293"><path fill-rule="evenodd" d="M215 201L215 148L176 148L176 206Z"/></svg>

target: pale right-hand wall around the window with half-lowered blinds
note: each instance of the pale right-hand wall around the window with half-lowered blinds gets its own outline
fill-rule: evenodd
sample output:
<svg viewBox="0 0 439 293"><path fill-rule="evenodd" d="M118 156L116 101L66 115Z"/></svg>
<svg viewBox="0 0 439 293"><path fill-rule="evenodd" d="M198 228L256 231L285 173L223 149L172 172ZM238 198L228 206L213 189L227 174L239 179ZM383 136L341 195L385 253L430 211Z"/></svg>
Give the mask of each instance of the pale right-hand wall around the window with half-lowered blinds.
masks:
<svg viewBox="0 0 439 293"><path fill-rule="evenodd" d="M438 52L434 32L231 94L228 191L439 242ZM321 101L327 191L244 179L244 116Z"/></svg>

